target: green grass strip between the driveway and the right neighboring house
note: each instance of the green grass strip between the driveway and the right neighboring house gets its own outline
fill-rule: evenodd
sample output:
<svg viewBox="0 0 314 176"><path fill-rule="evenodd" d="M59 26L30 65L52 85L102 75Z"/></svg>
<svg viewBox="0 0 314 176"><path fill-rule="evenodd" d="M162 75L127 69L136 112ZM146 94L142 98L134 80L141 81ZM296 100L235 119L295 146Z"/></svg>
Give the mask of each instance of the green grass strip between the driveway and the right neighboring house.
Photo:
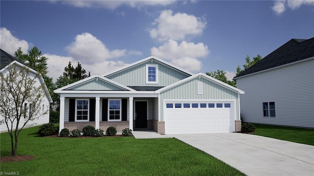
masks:
<svg viewBox="0 0 314 176"><path fill-rule="evenodd" d="M255 124L255 135L314 146L314 129Z"/></svg>

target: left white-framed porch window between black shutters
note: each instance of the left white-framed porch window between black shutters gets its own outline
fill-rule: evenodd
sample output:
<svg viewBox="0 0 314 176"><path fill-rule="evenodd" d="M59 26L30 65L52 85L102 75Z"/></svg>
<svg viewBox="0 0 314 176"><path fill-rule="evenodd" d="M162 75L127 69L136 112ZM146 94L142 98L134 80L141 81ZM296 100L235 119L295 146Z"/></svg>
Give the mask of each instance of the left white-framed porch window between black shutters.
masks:
<svg viewBox="0 0 314 176"><path fill-rule="evenodd" d="M76 100L75 116L76 122L88 122L89 120L89 100L88 99L77 99Z"/></svg>

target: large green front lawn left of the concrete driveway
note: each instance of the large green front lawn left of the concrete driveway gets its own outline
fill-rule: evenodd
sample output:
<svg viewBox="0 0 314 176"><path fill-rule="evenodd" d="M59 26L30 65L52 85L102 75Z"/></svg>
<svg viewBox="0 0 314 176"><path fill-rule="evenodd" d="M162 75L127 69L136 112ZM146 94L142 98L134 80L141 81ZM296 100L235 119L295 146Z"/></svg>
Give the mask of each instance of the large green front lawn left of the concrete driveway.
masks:
<svg viewBox="0 0 314 176"><path fill-rule="evenodd" d="M243 176L226 163L176 139L37 137L22 130L18 155L28 161L1 163L0 172L20 176ZM0 155L10 155L8 133L0 134Z"/></svg>

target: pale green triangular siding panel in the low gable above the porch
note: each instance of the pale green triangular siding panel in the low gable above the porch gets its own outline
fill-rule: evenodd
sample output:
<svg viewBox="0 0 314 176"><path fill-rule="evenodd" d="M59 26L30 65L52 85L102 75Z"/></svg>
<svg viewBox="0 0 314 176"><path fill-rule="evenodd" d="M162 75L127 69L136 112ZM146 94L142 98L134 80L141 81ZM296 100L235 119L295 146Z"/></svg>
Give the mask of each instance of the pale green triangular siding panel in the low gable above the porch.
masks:
<svg viewBox="0 0 314 176"><path fill-rule="evenodd" d="M94 78L66 90L125 90L104 80Z"/></svg>

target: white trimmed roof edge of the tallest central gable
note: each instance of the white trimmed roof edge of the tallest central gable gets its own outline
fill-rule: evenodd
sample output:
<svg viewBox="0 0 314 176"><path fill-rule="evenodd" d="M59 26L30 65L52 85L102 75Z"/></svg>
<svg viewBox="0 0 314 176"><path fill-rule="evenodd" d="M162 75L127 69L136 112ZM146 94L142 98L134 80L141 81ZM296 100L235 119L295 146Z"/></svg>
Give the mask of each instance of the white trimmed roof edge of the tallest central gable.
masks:
<svg viewBox="0 0 314 176"><path fill-rule="evenodd" d="M162 59L159 59L158 57L152 55L152 56L146 57L145 59L139 60L139 61L134 62L134 63L132 63L132 64L129 64L129 65L127 65L127 66L124 66L124 67L122 67L122 68L120 68L120 69L114 70L114 71L112 71L112 72L108 72L108 73L106 73L106 74L104 74L104 75L102 75L102 76L114 75L114 74L116 74L116 73L122 72L123 70L129 69L129 68L132 68L132 67L135 67L135 66L137 66L137 65L139 65L139 64L141 64L141 63L147 62L147 61L149 61L149 60L155 60L155 61L157 61L157 62L159 62L159 63L161 63L161 64L163 64L163 65L165 65L165 66L167 66L167 67L174 68L174 69L176 69L176 70L178 70L178 71L184 73L185 75L189 75L189 76L190 76L190 75L194 75L194 74L192 74L191 72L188 72L188 71L186 71L186 70L184 70L184 69L182 69L182 68L180 68L180 67L177 67L177 66L175 66L175 65L173 65L173 64L171 64L171 63L169 63L169 62L166 62L166 61L164 61L164 60L162 60Z"/></svg>

